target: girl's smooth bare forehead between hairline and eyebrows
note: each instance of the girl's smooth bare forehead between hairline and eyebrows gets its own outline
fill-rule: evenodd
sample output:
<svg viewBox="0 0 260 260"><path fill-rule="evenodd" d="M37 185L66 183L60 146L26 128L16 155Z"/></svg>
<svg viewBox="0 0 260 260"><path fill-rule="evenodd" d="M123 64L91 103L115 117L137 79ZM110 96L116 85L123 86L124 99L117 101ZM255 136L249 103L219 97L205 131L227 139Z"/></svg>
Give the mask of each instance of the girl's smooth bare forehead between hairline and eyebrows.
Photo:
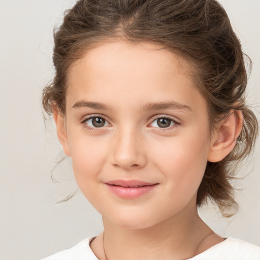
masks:
<svg viewBox="0 0 260 260"><path fill-rule="evenodd" d="M119 100L125 100L126 104L133 99L145 105L145 102L168 99L194 105L199 92L187 76L191 72L186 64L178 54L160 45L102 43L87 51L71 67L67 101L73 105L83 98L94 101L98 98L99 102L116 106Z"/></svg>

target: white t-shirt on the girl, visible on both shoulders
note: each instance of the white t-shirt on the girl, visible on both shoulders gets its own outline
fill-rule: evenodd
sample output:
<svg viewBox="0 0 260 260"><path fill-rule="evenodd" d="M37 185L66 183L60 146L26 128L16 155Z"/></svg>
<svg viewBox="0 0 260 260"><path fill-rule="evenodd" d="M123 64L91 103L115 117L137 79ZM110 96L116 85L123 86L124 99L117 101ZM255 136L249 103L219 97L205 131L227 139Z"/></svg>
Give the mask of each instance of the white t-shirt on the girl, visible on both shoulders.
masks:
<svg viewBox="0 0 260 260"><path fill-rule="evenodd" d="M87 238L74 247L52 254L42 260L98 260ZM187 260L260 260L260 247L235 238L223 242Z"/></svg>

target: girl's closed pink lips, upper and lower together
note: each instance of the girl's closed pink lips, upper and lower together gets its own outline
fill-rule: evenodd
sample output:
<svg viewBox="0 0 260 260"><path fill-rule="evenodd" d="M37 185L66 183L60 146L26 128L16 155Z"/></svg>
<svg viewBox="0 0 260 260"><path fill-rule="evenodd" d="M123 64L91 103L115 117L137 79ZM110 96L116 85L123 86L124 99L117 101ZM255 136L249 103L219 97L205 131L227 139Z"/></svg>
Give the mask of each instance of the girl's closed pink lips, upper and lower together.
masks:
<svg viewBox="0 0 260 260"><path fill-rule="evenodd" d="M139 180L113 180L105 184L117 196L123 199L135 199L153 190L158 183Z"/></svg>

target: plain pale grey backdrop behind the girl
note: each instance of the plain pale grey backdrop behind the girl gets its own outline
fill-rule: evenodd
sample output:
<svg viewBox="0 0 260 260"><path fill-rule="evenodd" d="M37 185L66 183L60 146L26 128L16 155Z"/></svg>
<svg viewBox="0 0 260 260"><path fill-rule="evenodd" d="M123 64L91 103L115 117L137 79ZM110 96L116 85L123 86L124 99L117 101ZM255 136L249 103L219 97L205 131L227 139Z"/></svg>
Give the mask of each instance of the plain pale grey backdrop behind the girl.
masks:
<svg viewBox="0 0 260 260"><path fill-rule="evenodd" d="M41 90L52 79L52 31L72 0L0 0L0 259L40 259L102 231L102 219L78 191L70 160L51 170L61 146L50 121L45 130ZM221 0L253 61L248 100L259 118L260 1ZM203 219L224 237L260 246L260 149L236 181L240 211L221 218L212 206Z"/></svg>

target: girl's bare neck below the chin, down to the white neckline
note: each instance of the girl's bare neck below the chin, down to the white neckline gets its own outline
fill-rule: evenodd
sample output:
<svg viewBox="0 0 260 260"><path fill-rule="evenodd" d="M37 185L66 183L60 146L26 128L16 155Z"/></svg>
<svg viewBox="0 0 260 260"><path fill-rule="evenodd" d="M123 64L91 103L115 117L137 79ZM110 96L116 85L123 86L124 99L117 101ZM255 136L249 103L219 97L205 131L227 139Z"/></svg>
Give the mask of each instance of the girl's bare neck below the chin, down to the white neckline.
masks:
<svg viewBox="0 0 260 260"><path fill-rule="evenodd" d="M197 254L201 241L212 233L197 208L145 229L123 229L103 221L107 260L187 259Z"/></svg>

